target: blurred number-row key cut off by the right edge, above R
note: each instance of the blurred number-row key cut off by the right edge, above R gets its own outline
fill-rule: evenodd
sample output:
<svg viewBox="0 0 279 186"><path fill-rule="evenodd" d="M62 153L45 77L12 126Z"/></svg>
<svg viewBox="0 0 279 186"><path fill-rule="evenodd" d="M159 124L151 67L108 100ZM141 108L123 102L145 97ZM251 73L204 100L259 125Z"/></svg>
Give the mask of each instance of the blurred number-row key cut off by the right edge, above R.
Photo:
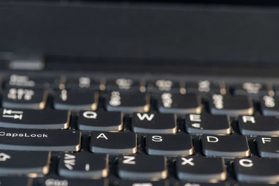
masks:
<svg viewBox="0 0 279 186"><path fill-rule="evenodd" d="M261 111L264 116L279 116L279 98L264 95L260 102Z"/></svg>

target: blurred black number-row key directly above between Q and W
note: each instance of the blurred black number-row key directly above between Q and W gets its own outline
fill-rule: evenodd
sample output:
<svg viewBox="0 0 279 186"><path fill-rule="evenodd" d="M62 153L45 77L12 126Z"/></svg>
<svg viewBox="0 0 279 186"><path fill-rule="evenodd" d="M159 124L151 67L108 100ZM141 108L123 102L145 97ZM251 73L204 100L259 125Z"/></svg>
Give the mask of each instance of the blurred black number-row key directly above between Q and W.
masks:
<svg viewBox="0 0 279 186"><path fill-rule="evenodd" d="M150 108L149 94L139 92L119 92L112 91L107 93L107 111L147 112Z"/></svg>

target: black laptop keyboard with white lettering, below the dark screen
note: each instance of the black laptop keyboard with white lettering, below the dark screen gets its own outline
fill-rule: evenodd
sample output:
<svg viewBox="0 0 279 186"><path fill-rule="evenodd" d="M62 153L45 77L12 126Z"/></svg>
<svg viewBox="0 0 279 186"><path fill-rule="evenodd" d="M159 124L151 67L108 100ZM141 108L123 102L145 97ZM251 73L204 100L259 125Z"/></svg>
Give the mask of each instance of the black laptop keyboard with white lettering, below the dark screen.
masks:
<svg viewBox="0 0 279 186"><path fill-rule="evenodd" d="M270 82L22 73L1 93L1 186L279 183Z"/></svg>

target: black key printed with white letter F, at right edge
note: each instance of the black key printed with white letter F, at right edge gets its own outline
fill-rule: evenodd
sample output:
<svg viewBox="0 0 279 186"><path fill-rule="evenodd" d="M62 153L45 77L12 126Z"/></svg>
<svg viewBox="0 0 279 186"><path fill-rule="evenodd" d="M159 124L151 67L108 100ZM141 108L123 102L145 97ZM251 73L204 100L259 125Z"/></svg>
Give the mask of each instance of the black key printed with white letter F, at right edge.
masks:
<svg viewBox="0 0 279 186"><path fill-rule="evenodd" d="M257 137L257 151L261 157L279 157L279 137Z"/></svg>

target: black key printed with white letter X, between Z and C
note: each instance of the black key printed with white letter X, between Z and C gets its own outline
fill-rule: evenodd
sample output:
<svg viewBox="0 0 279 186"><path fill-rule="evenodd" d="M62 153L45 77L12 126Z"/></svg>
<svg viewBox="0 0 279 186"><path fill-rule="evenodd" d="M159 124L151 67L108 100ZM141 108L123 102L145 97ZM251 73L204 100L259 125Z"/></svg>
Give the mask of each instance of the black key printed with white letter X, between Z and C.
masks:
<svg viewBox="0 0 279 186"><path fill-rule="evenodd" d="M225 162L220 157L179 157L176 161L179 180L216 183L227 179Z"/></svg>

